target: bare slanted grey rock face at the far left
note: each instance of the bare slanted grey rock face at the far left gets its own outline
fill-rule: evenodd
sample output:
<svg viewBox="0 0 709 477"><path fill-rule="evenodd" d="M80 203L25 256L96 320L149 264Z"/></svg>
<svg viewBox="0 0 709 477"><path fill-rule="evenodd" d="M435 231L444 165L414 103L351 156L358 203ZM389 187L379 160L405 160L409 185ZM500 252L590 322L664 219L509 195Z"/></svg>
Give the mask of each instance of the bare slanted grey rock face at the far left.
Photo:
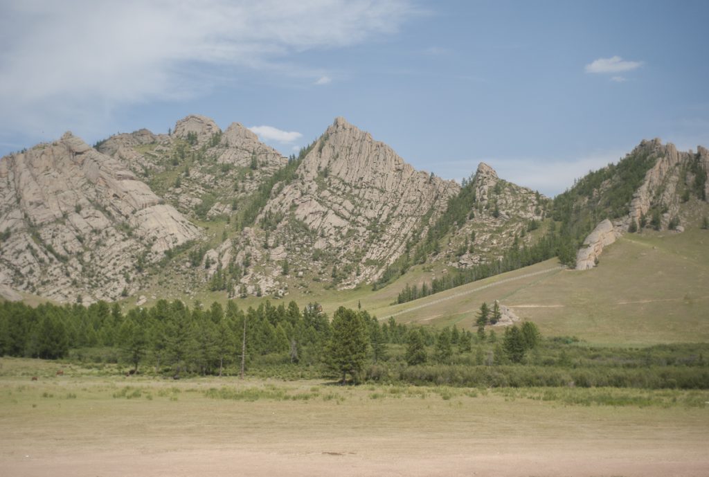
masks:
<svg viewBox="0 0 709 477"><path fill-rule="evenodd" d="M200 235L123 164L71 133L1 159L0 230L6 285L57 301L127 293L136 264Z"/></svg>

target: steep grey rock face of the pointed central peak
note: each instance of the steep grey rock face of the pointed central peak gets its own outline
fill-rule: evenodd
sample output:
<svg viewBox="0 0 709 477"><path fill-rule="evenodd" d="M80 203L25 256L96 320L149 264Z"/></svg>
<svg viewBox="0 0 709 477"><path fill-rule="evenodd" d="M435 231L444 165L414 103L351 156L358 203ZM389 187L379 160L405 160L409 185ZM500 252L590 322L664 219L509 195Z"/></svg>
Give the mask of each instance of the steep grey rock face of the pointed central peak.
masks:
<svg viewBox="0 0 709 477"><path fill-rule="evenodd" d="M280 188L279 188L280 189ZM445 211L454 181L416 171L391 147L335 119L259 216L284 218L270 232L300 269L322 269L340 287L377 279ZM300 251L296 251L299 249Z"/></svg>

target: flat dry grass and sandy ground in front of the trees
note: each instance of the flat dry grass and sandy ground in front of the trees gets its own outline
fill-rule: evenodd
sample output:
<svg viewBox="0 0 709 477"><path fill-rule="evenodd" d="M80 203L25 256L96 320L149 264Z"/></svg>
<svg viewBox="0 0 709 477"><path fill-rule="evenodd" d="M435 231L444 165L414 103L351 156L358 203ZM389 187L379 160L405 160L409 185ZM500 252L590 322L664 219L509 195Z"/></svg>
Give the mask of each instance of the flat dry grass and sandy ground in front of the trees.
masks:
<svg viewBox="0 0 709 477"><path fill-rule="evenodd" d="M5 383L0 475L709 475L709 408L372 399L372 389L325 386L307 401L243 402L206 398L214 381L180 383L172 400L127 400L111 397L115 386L58 384L42 398ZM72 389L77 398L60 398ZM344 400L323 400L330 392Z"/></svg>

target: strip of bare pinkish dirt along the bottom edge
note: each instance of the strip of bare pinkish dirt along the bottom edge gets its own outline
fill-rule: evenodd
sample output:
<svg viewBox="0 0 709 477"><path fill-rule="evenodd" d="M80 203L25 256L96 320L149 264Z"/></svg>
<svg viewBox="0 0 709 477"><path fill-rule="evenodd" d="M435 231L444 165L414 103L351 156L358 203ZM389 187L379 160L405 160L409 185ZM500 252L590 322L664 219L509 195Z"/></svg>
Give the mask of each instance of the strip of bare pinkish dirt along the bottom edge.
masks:
<svg viewBox="0 0 709 477"><path fill-rule="evenodd" d="M611 441L613 442L613 441ZM381 456L348 452L259 451L225 446L152 453L102 451L69 453L49 459L27 458L4 462L4 475L23 477L568 477L706 476L709 460L698 449L679 451L665 447L627 449L625 443L581 449L588 442L540 442L535 447L515 441L467 442L459 453ZM489 446L493 444L493 448ZM609 442L610 444L610 442ZM357 443L354 443L357 447ZM495 450L496 448L501 450ZM515 450L510 450L515 448ZM50 471L51 469L51 471Z"/></svg>

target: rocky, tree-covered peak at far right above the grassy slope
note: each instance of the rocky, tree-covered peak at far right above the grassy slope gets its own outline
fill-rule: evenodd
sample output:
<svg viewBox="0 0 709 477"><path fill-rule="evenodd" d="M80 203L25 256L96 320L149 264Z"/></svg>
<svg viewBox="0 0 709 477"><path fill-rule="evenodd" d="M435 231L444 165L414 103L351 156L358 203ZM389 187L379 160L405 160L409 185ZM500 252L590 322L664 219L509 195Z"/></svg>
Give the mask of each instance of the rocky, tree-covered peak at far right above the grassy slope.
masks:
<svg viewBox="0 0 709 477"><path fill-rule="evenodd" d="M591 172L557 196L555 218L584 240L576 269L592 268L603 246L623 233L645 228L681 232L688 224L698 225L708 211L708 173L704 147L679 152L656 138L640 142L618 164Z"/></svg>

